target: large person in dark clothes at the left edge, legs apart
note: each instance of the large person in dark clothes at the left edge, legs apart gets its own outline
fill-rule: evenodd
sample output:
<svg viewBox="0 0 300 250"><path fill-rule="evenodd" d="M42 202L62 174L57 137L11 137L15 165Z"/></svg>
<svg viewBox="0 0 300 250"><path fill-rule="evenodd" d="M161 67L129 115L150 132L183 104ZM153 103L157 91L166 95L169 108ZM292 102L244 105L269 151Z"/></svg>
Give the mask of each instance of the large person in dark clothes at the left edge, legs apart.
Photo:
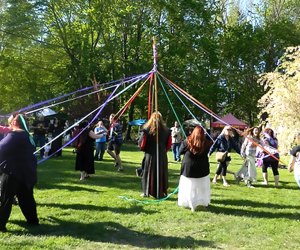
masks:
<svg viewBox="0 0 300 250"><path fill-rule="evenodd" d="M38 225L33 188L37 182L34 141L21 114L8 119L11 132L0 142L0 231L6 231L14 197L27 223Z"/></svg>

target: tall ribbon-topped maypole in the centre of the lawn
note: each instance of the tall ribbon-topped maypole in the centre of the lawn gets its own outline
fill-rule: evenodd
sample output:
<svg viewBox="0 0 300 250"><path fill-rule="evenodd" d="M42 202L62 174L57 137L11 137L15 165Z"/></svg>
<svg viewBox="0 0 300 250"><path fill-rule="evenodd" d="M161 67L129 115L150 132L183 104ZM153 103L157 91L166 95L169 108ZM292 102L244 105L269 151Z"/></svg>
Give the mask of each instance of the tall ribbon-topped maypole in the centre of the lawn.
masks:
<svg viewBox="0 0 300 250"><path fill-rule="evenodd" d="M154 75L154 102L155 112L158 113L158 97L157 97L157 51L155 38L153 37L153 75ZM159 198L159 141L158 141L158 120L156 119L156 198Z"/></svg>

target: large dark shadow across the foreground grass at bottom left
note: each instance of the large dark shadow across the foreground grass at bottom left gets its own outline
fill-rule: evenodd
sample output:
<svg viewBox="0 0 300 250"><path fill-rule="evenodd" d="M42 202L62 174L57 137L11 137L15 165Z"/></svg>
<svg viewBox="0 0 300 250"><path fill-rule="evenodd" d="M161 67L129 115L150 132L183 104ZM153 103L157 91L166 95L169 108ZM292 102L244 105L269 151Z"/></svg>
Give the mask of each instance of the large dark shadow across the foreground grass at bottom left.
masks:
<svg viewBox="0 0 300 250"><path fill-rule="evenodd" d="M216 248L211 241L196 240L190 236L179 238L142 233L115 222L80 223L63 221L54 217L49 217L49 221L53 225L29 226L24 221L13 221L12 223L26 229L25 232L15 230L13 233L27 236L28 234L33 236L68 236L93 242L122 244L138 248Z"/></svg>

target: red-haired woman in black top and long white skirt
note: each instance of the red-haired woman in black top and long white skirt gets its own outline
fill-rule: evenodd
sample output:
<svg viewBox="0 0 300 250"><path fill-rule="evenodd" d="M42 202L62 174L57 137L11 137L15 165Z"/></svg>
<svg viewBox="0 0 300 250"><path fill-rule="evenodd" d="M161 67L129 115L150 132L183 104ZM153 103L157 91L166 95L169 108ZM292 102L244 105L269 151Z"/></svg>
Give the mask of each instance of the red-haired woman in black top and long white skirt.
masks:
<svg viewBox="0 0 300 250"><path fill-rule="evenodd" d="M192 134L181 144L184 155L179 180L178 205L191 208L207 207L210 203L210 178L208 151L212 142L204 130L196 126Z"/></svg>

